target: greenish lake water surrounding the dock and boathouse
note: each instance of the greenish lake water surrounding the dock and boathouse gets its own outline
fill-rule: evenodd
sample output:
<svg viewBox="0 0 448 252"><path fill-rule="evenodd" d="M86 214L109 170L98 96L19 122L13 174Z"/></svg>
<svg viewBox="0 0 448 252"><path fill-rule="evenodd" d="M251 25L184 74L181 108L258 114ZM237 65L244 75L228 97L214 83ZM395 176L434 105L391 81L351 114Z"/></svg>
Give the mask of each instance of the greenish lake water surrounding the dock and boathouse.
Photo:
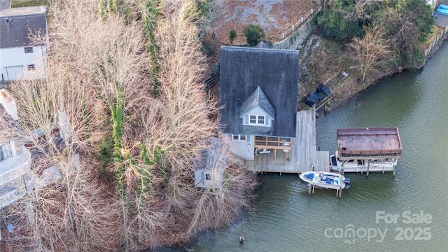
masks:
<svg viewBox="0 0 448 252"><path fill-rule="evenodd" d="M297 175L264 174L253 207L202 232L190 251L448 251L448 43L421 71L318 118L317 144L332 153L337 128L393 126L403 148L395 178L346 174L351 188L339 199L335 190L309 196Z"/></svg>

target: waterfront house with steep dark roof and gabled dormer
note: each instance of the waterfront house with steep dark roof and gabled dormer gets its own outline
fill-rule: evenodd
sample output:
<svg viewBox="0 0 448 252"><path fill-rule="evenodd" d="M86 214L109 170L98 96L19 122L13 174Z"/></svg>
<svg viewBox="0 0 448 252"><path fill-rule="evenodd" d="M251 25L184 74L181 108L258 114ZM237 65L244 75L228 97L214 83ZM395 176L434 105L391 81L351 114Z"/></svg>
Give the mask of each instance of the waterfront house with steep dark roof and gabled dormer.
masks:
<svg viewBox="0 0 448 252"><path fill-rule="evenodd" d="M297 50L221 47L221 123L232 153L254 160L262 153L290 151L298 73Z"/></svg>

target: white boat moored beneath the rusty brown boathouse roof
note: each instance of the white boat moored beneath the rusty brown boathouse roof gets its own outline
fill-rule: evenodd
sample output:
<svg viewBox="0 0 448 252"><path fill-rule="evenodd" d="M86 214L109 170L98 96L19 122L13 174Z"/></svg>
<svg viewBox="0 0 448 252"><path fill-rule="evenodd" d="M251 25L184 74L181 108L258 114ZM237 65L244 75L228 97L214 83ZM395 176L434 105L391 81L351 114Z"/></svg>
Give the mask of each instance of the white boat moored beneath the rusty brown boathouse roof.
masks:
<svg viewBox="0 0 448 252"><path fill-rule="evenodd" d="M368 164L367 164L368 163ZM339 172L344 167L345 172L393 172L397 166L396 158L386 158L384 160L339 160L337 151L335 155L330 155L330 171Z"/></svg>

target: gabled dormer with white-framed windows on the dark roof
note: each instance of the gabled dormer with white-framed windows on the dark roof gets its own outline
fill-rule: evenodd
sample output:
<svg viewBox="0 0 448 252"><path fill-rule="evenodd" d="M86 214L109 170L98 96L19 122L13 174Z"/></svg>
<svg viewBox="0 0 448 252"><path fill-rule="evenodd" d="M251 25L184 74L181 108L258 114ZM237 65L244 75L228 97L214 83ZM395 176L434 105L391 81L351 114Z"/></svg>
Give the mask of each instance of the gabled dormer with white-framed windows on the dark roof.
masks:
<svg viewBox="0 0 448 252"><path fill-rule="evenodd" d="M245 126L272 127L275 109L260 86L239 109L239 118Z"/></svg>

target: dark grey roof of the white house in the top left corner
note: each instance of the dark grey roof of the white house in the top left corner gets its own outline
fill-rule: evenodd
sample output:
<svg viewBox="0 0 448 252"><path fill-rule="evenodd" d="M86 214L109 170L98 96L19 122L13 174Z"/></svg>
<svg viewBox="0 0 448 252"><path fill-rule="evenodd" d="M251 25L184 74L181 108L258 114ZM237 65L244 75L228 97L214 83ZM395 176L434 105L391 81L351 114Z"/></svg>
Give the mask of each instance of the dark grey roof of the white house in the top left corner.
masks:
<svg viewBox="0 0 448 252"><path fill-rule="evenodd" d="M47 34L45 10L41 6L0 11L0 48L32 46L29 34L38 31Z"/></svg>

